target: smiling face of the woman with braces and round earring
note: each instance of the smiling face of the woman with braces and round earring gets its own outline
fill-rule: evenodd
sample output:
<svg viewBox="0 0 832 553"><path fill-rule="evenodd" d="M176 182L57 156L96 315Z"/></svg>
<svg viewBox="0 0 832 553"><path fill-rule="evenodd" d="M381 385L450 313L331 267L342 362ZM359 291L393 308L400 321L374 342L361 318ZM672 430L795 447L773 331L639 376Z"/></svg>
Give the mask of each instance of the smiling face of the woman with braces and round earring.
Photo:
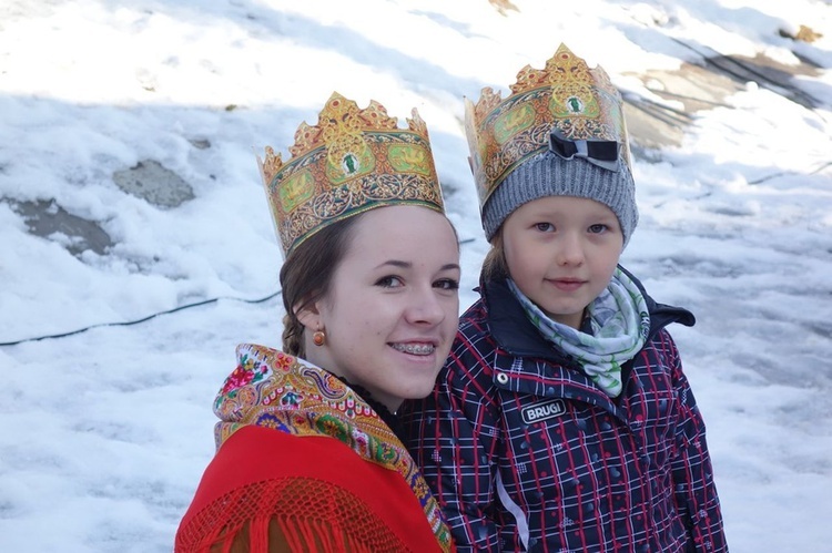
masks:
<svg viewBox="0 0 832 553"><path fill-rule="evenodd" d="M456 334L459 247L445 216L389 206L361 216L327 295L298 314L315 365L395 411L434 387Z"/></svg>

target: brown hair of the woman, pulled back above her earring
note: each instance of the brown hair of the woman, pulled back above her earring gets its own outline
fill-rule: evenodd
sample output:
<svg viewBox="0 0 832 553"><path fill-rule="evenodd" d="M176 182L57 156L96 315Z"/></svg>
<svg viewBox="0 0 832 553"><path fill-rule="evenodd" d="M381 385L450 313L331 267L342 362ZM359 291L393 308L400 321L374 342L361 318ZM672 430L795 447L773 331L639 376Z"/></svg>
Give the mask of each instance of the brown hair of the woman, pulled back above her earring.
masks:
<svg viewBox="0 0 832 553"><path fill-rule="evenodd" d="M352 228L363 214L325 226L298 244L281 267L283 289L283 351L304 357L304 326L295 311L307 307L329 290L335 269L344 258Z"/></svg>

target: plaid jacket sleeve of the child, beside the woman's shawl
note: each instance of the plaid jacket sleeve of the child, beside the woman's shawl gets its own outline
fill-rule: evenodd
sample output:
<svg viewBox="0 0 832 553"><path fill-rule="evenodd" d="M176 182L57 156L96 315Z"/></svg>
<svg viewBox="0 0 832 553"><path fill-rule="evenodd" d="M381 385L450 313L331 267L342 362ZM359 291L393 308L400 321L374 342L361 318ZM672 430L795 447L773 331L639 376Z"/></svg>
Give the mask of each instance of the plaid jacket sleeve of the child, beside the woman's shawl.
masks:
<svg viewBox="0 0 832 553"><path fill-rule="evenodd" d="M404 442L460 552L500 551L499 533L505 531L494 520L499 409L484 347L483 340L458 335L433 393L409 402L402 418Z"/></svg>

